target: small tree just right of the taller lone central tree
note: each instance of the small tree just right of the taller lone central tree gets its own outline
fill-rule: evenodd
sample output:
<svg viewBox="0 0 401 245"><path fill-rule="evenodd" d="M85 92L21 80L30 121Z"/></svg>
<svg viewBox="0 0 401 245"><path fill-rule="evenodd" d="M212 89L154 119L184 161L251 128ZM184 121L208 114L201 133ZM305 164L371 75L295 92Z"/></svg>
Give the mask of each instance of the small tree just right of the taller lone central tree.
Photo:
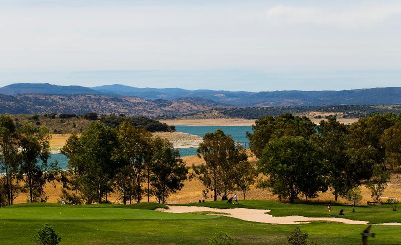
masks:
<svg viewBox="0 0 401 245"><path fill-rule="evenodd" d="M244 200L245 194L252 184L255 183L257 177L257 171L255 163L249 161L240 161L236 166L236 176L234 178L236 189L241 191Z"/></svg>

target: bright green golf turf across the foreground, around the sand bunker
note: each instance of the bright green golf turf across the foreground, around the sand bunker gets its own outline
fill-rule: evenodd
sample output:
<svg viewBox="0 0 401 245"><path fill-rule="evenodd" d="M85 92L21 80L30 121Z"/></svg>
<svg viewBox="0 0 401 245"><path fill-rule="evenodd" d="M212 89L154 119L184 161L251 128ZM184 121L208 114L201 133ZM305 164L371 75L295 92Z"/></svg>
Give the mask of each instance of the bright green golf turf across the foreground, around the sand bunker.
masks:
<svg viewBox="0 0 401 245"><path fill-rule="evenodd" d="M222 202L199 204L225 208L234 206ZM245 207L272 210L289 205L267 201L246 201L243 204ZM297 204L289 205L287 211L282 206L278 213L295 212L298 205L299 210L320 208L319 205ZM317 244L359 244L359 233L366 227L327 221L298 225L265 224L226 216L150 210L158 206L158 203L134 204L128 208L119 204L63 205L60 210L57 203L29 203L2 207L0 244L31 244L32 234L46 222L53 225L62 237L61 244L204 244L219 231L231 233L239 244L286 244L289 231L297 226ZM390 209L376 211L383 215L384 212L395 213ZM325 210L322 213L327 215ZM371 231L376 233L376 237L369 238L369 244L401 243L401 226L373 225Z"/></svg>

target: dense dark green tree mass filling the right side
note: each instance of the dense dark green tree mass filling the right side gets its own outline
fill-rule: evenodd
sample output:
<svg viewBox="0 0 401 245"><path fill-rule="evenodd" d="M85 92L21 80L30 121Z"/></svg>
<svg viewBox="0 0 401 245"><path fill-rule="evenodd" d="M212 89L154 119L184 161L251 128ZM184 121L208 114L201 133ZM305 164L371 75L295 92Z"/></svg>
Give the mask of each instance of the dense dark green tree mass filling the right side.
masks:
<svg viewBox="0 0 401 245"><path fill-rule="evenodd" d="M266 176L258 185L280 198L294 202L299 194L314 198L330 190L337 200L365 184L379 201L390 170L401 163L400 132L401 114L374 113L349 125L282 114L256 120L247 135Z"/></svg>

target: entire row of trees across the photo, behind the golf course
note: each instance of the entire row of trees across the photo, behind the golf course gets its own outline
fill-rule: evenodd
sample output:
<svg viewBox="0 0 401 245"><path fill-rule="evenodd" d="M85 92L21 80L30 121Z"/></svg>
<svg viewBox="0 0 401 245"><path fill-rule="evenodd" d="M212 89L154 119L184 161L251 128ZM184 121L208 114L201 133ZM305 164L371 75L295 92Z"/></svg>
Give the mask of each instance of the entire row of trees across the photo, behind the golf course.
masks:
<svg viewBox="0 0 401 245"><path fill-rule="evenodd" d="M192 178L204 185L204 197L214 200L234 191L245 199L257 184L292 203L330 191L335 200L343 197L355 206L364 185L373 202L398 202L382 200L381 194L401 165L401 114L370 114L352 124L329 117L319 125L289 113L265 116L247 134L257 161L249 161L246 149L218 129L203 137L197 156L204 162L193 164L191 171L168 140L129 121L117 127L93 121L80 136L71 135L61 150L70 159L67 170L47 162L46 126L17 126L10 116L1 116L0 128L3 205L12 204L20 192L28 193L30 201L46 201L44 185L54 181L62 182L60 198L70 204L109 202L111 192L122 203L149 196L164 203Z"/></svg>

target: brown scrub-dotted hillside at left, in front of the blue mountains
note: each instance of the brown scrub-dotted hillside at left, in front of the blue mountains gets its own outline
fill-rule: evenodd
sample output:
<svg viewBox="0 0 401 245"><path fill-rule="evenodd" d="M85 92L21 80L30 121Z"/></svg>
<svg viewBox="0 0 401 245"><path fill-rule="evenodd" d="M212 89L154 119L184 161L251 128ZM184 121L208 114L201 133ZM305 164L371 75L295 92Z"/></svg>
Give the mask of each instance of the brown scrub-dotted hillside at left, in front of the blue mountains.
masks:
<svg viewBox="0 0 401 245"><path fill-rule="evenodd" d="M0 94L0 114L96 112L147 117L174 117L224 105L208 99L149 100L96 94Z"/></svg>

